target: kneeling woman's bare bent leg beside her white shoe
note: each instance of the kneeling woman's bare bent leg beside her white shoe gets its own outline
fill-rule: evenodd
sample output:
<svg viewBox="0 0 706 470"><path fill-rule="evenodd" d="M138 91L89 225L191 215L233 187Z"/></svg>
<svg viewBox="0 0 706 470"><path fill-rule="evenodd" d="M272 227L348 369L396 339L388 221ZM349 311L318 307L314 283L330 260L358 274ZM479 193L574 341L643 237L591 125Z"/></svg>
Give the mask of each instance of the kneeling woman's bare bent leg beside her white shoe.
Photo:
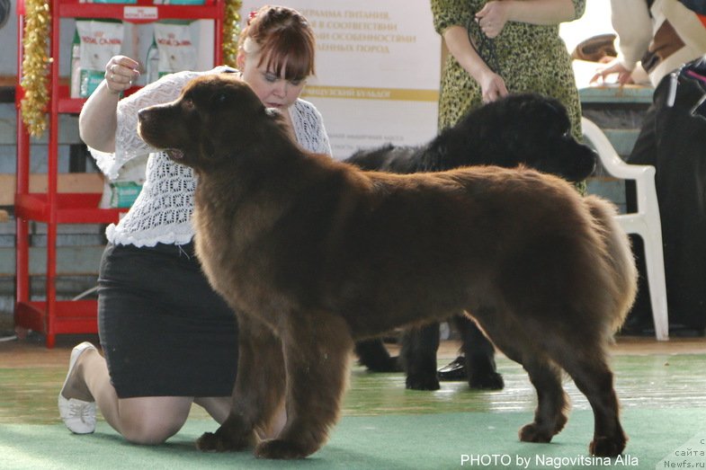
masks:
<svg viewBox="0 0 706 470"><path fill-rule="evenodd" d="M186 421L193 401L188 396L119 398L105 359L94 349L85 350L76 360L62 395L95 401L113 429L130 442L146 445L161 444L174 436Z"/></svg>

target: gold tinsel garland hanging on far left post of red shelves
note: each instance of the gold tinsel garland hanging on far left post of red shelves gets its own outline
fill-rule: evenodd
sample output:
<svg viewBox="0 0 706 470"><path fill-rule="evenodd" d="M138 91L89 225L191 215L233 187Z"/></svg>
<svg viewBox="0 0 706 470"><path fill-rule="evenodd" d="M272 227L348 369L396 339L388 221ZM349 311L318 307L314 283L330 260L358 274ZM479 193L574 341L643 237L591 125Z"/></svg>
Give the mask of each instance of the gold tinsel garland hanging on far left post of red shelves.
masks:
<svg viewBox="0 0 706 470"><path fill-rule="evenodd" d="M49 104L49 31L51 11L44 0L24 0L25 21L22 37L22 79L24 90L20 107L22 121L31 136L40 137L47 129Z"/></svg>

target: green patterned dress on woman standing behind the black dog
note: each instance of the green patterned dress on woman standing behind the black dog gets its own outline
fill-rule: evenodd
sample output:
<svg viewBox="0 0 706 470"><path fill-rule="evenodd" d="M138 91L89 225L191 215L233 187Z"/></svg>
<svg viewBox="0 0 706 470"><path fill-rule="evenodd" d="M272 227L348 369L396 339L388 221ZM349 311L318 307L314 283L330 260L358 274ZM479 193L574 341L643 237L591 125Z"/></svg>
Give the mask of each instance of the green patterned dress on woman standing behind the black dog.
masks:
<svg viewBox="0 0 706 470"><path fill-rule="evenodd" d="M486 0L432 0L434 28L439 34L450 26L468 28L474 14L486 3ZM573 0L573 3L576 18L579 18L584 14L585 0ZM479 30L471 28L471 31ZM474 43L479 44L479 41L480 38L474 37ZM507 90L541 93L564 103L571 118L572 132L581 140L581 102L571 57L559 37L559 24L507 22L493 45L496 64ZM466 112L481 104L480 86L449 54L442 73L439 129L454 125Z"/></svg>

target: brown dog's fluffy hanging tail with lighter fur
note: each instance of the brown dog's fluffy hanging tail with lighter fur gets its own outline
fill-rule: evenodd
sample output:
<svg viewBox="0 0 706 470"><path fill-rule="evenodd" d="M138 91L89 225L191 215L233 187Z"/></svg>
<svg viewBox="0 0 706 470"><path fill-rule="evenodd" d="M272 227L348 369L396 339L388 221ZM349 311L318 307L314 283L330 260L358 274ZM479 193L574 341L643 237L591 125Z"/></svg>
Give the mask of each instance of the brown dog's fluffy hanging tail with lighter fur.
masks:
<svg viewBox="0 0 706 470"><path fill-rule="evenodd" d="M630 312L638 290L638 270L630 248L630 238L615 220L617 209L606 200L586 196L585 202L594 217L606 246L605 262L612 270L615 311L610 328L618 331Z"/></svg>

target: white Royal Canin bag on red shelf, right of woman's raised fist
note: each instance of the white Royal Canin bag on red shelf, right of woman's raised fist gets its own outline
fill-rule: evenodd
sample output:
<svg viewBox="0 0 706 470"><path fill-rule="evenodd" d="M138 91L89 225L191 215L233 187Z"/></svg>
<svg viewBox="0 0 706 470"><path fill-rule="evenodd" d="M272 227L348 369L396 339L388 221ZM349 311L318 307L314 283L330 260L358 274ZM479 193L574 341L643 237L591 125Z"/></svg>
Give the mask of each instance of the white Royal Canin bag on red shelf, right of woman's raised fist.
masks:
<svg viewBox="0 0 706 470"><path fill-rule="evenodd" d="M147 51L147 83L159 77L195 70L196 46L192 40L191 22L155 22L155 38Z"/></svg>

